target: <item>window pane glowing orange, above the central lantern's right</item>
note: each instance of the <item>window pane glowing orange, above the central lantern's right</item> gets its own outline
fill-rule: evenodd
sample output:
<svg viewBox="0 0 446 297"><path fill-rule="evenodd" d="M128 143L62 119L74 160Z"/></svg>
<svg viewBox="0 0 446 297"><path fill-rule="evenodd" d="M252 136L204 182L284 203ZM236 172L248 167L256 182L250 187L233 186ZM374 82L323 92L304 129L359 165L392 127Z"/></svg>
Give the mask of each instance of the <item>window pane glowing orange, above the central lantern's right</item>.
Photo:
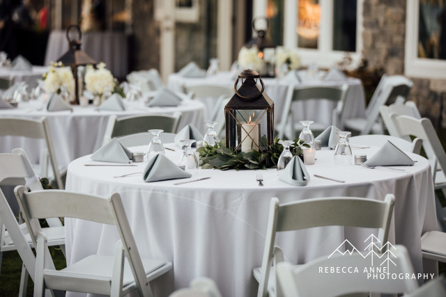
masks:
<svg viewBox="0 0 446 297"><path fill-rule="evenodd" d="M318 48L321 6L318 0L298 2L298 46L307 49Z"/></svg>

